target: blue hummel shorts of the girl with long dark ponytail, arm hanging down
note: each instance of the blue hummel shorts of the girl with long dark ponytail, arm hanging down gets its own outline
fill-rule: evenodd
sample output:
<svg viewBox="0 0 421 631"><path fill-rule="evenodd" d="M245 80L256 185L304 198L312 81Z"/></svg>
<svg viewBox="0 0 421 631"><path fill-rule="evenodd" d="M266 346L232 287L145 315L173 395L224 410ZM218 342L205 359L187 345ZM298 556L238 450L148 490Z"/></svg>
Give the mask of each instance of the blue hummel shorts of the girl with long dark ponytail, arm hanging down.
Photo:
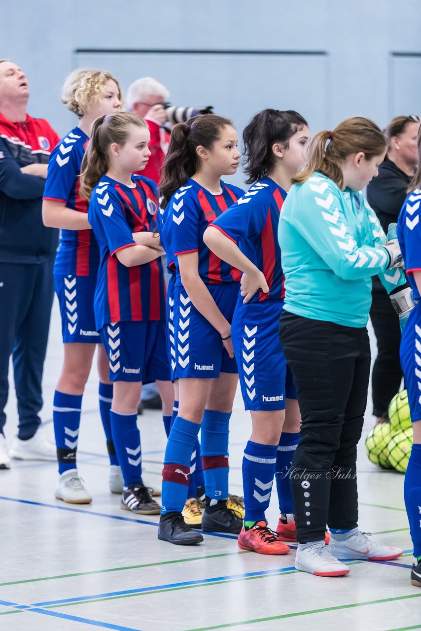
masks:
<svg viewBox="0 0 421 631"><path fill-rule="evenodd" d="M232 321L240 283L206 285L221 313ZM171 314L170 314L171 315ZM171 352L171 378L215 379L221 372L238 372L235 358L228 356L221 336L191 304L183 287L174 287L174 323L168 327L174 336Z"/></svg>

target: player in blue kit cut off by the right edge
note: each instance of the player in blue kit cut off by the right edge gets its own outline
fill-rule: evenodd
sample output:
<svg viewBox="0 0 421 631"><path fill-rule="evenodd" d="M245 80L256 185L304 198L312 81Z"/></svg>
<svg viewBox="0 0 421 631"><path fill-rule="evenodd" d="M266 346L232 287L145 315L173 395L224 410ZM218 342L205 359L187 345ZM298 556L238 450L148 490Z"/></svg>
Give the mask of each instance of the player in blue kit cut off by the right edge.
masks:
<svg viewBox="0 0 421 631"><path fill-rule="evenodd" d="M418 168L399 215L397 232L408 283L416 302L412 311L409 304L405 310L408 320L402 332L400 358L413 427L413 445L403 485L413 543L411 582L421 587L421 127L418 129L418 155Z"/></svg>

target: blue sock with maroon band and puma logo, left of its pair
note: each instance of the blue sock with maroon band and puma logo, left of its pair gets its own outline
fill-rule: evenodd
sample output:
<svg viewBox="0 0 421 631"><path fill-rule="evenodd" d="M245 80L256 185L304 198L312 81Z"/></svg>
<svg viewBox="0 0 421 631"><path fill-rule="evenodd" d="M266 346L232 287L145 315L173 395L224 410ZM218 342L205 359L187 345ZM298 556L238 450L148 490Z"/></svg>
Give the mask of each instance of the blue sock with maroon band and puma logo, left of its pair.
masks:
<svg viewBox="0 0 421 631"><path fill-rule="evenodd" d="M191 454L199 429L199 423L181 416L172 424L162 469L162 515L181 512L186 504Z"/></svg>

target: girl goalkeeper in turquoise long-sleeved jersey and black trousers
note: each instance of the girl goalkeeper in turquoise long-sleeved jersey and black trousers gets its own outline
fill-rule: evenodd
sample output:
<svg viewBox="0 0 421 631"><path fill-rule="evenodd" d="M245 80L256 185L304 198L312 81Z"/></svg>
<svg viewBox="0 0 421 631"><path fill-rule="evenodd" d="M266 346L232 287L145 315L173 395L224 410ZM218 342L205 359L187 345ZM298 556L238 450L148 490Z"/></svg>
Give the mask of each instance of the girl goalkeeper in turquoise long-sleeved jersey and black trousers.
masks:
<svg viewBox="0 0 421 631"><path fill-rule="evenodd" d="M394 292L398 309L410 291L403 288L403 272L392 269L401 261L397 240L386 242L360 192L385 153L384 136L368 119L319 132L279 222L285 273L280 339L302 416L291 476L295 567L317 576L348 574L340 559L402 554L358 528L356 460L370 373L371 276L379 274Z"/></svg>

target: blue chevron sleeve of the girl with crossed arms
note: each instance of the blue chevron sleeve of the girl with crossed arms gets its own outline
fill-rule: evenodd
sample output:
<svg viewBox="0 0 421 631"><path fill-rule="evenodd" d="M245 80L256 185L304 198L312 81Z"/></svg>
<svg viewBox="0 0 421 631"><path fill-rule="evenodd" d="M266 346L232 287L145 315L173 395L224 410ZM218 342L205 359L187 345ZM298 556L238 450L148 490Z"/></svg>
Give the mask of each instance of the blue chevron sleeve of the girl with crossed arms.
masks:
<svg viewBox="0 0 421 631"><path fill-rule="evenodd" d="M108 182L100 182L92 192L89 204L88 221L92 225L98 243L105 241L111 255L118 250L136 245L131 228L114 187Z"/></svg>

